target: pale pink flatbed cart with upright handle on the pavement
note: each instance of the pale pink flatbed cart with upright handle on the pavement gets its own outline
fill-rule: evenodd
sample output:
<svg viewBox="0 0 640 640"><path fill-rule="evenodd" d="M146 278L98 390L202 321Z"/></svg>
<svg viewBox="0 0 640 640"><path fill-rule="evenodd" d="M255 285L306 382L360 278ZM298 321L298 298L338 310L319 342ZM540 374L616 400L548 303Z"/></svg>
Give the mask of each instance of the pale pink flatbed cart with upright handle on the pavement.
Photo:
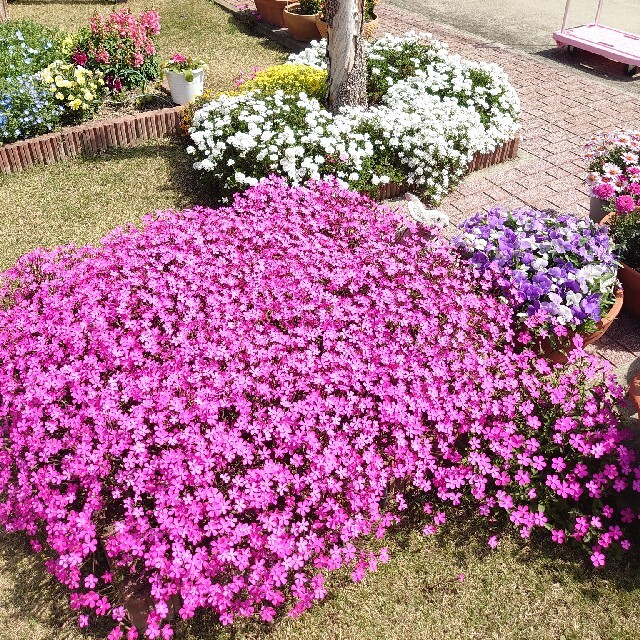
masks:
<svg viewBox="0 0 640 640"><path fill-rule="evenodd" d="M567 28L570 4L571 0L567 0L562 29L553 34L556 44L559 47L567 47L569 51L583 49L609 60L621 62L624 64L625 74L634 75L640 67L640 36L600 24L604 0L598 2L596 19L593 23Z"/></svg>

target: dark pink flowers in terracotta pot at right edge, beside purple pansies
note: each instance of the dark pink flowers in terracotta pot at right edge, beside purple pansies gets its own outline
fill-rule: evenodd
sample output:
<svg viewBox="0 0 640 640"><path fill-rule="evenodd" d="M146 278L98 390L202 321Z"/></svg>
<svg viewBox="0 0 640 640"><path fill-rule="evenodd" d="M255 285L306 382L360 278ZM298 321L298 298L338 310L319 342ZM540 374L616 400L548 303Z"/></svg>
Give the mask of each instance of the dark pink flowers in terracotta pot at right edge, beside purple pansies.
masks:
<svg viewBox="0 0 640 640"><path fill-rule="evenodd" d="M618 196L602 224L609 228L621 262L618 279L625 291L624 310L640 320L640 198Z"/></svg>

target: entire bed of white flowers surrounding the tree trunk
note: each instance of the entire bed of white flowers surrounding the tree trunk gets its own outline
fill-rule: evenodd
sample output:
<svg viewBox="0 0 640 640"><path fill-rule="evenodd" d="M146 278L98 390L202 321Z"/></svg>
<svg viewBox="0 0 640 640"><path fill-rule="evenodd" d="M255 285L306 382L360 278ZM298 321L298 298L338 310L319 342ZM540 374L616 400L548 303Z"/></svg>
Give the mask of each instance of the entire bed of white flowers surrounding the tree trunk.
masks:
<svg viewBox="0 0 640 640"><path fill-rule="evenodd" d="M374 193L406 182L437 203L476 152L518 131L518 97L496 65L448 53L429 34L385 36L367 47L368 109L332 115L304 93L222 95L197 111L187 151L221 192L271 173L292 184L336 175ZM289 62L326 69L326 41Z"/></svg>

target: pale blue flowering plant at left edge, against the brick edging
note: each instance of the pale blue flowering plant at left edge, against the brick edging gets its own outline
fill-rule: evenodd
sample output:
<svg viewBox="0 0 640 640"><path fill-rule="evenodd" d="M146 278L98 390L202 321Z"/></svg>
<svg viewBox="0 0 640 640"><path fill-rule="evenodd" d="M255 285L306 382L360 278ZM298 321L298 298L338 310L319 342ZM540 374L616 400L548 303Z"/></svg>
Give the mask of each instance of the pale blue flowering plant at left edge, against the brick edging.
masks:
<svg viewBox="0 0 640 640"><path fill-rule="evenodd" d="M60 123L62 108L33 76L0 82L0 142L41 135Z"/></svg>

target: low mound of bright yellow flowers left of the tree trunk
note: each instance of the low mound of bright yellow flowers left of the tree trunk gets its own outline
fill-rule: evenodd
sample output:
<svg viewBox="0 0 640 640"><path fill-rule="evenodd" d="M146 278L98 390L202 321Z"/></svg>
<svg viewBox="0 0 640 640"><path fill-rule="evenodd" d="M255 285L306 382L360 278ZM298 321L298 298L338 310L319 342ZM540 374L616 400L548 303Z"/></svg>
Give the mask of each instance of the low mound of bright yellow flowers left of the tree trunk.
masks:
<svg viewBox="0 0 640 640"><path fill-rule="evenodd" d="M327 72L303 64L278 64L258 71L238 87L237 93L259 90L273 95L279 89L290 95L304 91L310 98L322 101L327 92Z"/></svg>

